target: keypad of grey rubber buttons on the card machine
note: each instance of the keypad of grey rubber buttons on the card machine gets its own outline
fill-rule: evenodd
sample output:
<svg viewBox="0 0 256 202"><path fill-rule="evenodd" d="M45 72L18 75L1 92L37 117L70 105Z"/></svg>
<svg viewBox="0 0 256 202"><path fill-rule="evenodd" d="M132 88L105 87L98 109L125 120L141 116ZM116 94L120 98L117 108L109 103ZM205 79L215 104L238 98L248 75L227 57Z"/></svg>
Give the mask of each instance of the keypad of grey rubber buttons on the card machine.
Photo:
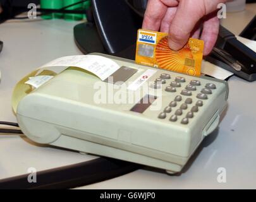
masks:
<svg viewBox="0 0 256 202"><path fill-rule="evenodd" d="M162 85L171 80L171 74L162 73L159 78L150 86L151 88L161 88ZM199 108L203 107L204 102L214 94L217 88L213 83L203 84L201 87L199 80L188 80L183 76L176 76L169 85L166 85L164 91L173 98L167 106L162 107L162 112L158 115L159 119L167 119L170 122L178 122L186 125L197 117ZM180 95L179 95L180 94ZM184 100L183 102L181 102ZM180 104L179 104L180 103Z"/></svg>

